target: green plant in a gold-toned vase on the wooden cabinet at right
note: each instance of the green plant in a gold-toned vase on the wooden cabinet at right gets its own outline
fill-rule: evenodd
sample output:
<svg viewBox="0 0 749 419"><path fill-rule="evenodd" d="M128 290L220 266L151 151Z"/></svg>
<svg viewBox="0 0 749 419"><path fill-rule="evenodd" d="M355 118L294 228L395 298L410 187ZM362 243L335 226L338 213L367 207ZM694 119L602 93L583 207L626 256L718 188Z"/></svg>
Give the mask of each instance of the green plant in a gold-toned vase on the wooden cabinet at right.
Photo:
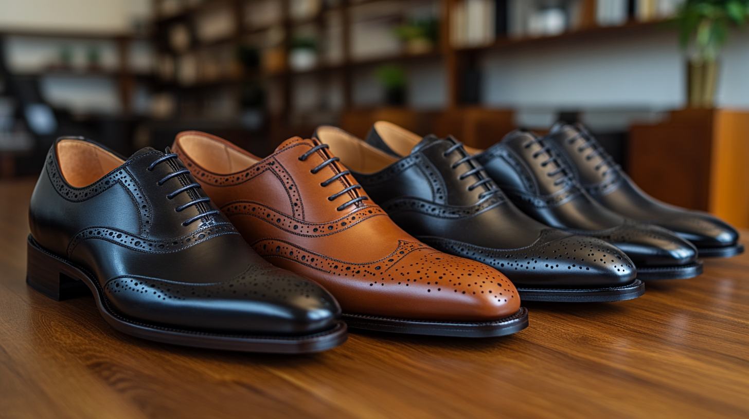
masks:
<svg viewBox="0 0 749 419"><path fill-rule="evenodd" d="M688 55L687 96L691 108L712 108L718 82L718 55L732 27L749 18L749 0L686 0L675 18Z"/></svg>

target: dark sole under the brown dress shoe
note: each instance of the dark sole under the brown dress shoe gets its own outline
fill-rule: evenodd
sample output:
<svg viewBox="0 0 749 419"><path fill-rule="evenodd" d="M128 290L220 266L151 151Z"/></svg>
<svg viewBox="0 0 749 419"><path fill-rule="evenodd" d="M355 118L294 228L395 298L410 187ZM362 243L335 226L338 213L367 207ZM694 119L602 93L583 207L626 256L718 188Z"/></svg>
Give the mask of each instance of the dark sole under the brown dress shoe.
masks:
<svg viewBox="0 0 749 419"><path fill-rule="evenodd" d="M350 328L389 331L392 333L428 334L452 337L496 337L513 334L528 327L528 310L521 307L517 313L489 322L441 322L408 320L395 317L344 314Z"/></svg>

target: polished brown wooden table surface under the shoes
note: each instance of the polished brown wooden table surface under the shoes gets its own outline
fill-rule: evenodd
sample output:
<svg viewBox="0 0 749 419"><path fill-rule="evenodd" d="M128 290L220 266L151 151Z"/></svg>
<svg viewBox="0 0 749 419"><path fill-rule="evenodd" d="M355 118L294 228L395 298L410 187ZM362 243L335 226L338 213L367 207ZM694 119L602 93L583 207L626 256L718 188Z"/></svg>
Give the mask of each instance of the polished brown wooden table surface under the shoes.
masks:
<svg viewBox="0 0 749 419"><path fill-rule="evenodd" d="M130 337L93 297L28 288L33 184L0 183L0 418L749 418L749 254L628 302L525 303L530 328L509 337L220 352Z"/></svg>

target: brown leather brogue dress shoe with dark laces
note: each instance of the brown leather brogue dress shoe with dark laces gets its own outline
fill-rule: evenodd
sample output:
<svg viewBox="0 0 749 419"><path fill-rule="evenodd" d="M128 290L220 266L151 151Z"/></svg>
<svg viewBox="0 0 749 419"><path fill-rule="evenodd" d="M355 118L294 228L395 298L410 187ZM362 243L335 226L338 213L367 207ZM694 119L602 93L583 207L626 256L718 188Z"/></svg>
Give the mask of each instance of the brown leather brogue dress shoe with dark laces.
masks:
<svg viewBox="0 0 749 419"><path fill-rule="evenodd" d="M276 266L321 284L350 327L486 337L527 327L500 272L409 236L317 140L260 159L204 132L173 150L244 239Z"/></svg>

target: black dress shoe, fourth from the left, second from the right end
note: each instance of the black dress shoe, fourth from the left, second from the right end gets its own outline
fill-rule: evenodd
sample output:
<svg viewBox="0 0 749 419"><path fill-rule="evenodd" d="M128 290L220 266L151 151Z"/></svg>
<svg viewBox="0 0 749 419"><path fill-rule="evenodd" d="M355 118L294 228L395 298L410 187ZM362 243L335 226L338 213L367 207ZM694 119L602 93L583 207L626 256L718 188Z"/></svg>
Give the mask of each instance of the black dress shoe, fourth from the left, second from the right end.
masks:
<svg viewBox="0 0 749 419"><path fill-rule="evenodd" d="M632 221L604 208L555 156L543 138L515 131L476 159L527 215L552 227L610 242L634 262L637 278L692 278L702 273L694 245L663 227Z"/></svg>

